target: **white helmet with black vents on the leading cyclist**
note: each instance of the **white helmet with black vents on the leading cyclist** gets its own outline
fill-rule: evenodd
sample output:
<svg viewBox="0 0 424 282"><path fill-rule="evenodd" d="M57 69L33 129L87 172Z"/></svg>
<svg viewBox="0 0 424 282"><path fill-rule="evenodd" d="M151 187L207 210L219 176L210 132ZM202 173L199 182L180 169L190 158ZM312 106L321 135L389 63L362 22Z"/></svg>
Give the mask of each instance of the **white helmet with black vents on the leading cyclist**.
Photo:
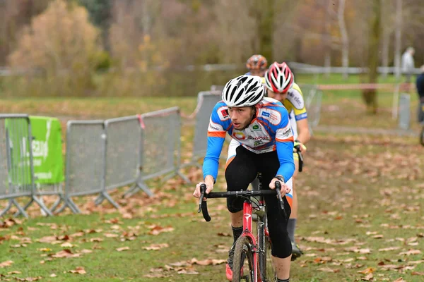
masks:
<svg viewBox="0 0 424 282"><path fill-rule="evenodd" d="M228 81L223 90L223 102L227 106L254 106L265 96L265 88L259 76L240 75Z"/></svg>

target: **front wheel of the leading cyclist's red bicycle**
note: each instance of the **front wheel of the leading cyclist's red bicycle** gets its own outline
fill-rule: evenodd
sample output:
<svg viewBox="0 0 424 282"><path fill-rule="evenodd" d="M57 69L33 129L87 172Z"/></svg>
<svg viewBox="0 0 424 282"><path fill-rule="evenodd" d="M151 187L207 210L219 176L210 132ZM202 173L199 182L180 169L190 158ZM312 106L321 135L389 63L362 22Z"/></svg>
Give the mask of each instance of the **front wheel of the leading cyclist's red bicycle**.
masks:
<svg viewBox="0 0 424 282"><path fill-rule="evenodd" d="M247 262L247 268L245 262ZM255 281L253 251L249 238L245 236L238 238L235 243L234 260L232 263L232 282L240 281Z"/></svg>

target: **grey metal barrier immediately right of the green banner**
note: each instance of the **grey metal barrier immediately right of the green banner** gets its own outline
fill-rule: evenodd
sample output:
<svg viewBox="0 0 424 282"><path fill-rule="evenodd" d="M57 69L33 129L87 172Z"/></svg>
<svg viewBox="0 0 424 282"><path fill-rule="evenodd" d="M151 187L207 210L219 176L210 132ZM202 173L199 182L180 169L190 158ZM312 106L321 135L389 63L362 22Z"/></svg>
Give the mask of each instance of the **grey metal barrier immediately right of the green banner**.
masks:
<svg viewBox="0 0 424 282"><path fill-rule="evenodd" d="M105 187L105 149L106 135L103 121L69 121L66 131L66 177L64 195L54 203L54 211L63 201L57 211L69 207L72 212L80 213L72 197L100 194L114 207L114 202L107 194Z"/></svg>

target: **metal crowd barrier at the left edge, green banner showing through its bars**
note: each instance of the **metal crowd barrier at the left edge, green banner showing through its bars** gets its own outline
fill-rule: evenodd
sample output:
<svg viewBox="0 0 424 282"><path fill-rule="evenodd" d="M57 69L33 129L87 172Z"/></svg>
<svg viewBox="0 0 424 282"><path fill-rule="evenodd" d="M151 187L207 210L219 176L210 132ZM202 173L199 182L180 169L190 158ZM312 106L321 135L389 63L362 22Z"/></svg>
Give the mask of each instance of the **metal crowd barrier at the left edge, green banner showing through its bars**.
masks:
<svg viewBox="0 0 424 282"><path fill-rule="evenodd" d="M0 212L3 216L14 205L16 216L28 217L25 209L35 202L43 212L52 215L36 196L33 166L33 135L30 119L26 114L0 115L0 200L8 200L8 206ZM21 207L17 197L30 197Z"/></svg>

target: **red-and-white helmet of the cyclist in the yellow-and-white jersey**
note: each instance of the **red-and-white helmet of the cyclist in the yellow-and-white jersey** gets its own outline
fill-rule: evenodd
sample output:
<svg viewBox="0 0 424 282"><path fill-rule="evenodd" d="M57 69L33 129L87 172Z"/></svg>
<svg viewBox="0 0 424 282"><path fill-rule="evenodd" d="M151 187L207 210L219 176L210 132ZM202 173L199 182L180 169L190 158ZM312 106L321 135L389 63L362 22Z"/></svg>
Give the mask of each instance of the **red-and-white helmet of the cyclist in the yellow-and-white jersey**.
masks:
<svg viewBox="0 0 424 282"><path fill-rule="evenodd" d="M286 63L274 62L265 73L266 88L276 93L285 93L292 87L295 80Z"/></svg>

